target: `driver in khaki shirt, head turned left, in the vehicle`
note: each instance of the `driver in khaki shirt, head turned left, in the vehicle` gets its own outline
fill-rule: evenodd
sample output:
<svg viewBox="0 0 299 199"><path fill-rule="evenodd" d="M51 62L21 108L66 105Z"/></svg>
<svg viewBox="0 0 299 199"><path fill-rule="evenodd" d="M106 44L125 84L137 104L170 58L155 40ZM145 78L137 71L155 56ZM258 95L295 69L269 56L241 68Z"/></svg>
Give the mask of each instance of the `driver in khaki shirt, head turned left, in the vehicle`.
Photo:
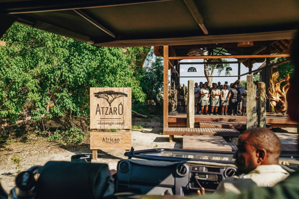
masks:
<svg viewBox="0 0 299 199"><path fill-rule="evenodd" d="M289 176L278 164L281 142L266 128L251 128L238 139L235 165L240 175L225 178L216 192L241 193L254 187L273 187Z"/></svg>

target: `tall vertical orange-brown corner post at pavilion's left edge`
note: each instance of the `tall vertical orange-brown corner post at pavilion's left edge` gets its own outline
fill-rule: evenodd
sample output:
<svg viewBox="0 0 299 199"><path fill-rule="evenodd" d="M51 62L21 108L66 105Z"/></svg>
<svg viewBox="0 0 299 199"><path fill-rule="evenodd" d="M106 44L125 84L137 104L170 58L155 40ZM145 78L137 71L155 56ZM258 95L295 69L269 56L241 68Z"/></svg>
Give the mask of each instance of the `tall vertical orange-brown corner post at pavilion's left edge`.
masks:
<svg viewBox="0 0 299 199"><path fill-rule="evenodd" d="M168 128L168 46L164 50L164 70L163 70L163 129Z"/></svg>

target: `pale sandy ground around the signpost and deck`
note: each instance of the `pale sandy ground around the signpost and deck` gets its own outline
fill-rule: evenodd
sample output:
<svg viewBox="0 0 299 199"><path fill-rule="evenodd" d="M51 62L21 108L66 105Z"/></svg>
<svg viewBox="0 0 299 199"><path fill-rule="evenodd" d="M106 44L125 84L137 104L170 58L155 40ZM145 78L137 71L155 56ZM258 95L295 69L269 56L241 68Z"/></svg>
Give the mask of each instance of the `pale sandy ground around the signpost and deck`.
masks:
<svg viewBox="0 0 299 199"><path fill-rule="evenodd" d="M132 130L132 146L135 150L152 148L182 148L183 136L175 136L173 142L168 142L168 135L160 135L163 129L160 123L148 122L145 129ZM140 122L141 124L141 122ZM135 124L136 125L136 124ZM141 124L142 125L142 124ZM143 124L144 125L144 124ZM146 126L146 125L144 125ZM281 139L283 144L297 144L298 134L295 128L276 128L274 132ZM9 192L15 186L14 180L17 175L17 169L10 160L16 155L21 159L21 170L27 170L35 165L44 165L48 161L70 161L72 155L81 153L92 153L89 144L80 144L76 146L61 147L51 142L38 142L32 144L12 143L7 147L11 150L20 150L17 153L0 154L0 181L5 191ZM109 169L116 169L117 162L123 158L124 150L98 150L98 163L107 163Z"/></svg>

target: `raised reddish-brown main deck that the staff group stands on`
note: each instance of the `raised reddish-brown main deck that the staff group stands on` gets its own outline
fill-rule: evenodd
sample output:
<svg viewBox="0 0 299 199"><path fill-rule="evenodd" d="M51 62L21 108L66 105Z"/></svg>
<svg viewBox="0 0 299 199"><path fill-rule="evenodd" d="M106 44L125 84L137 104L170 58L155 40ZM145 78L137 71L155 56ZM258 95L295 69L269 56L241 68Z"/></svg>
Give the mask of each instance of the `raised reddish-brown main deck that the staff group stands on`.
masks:
<svg viewBox="0 0 299 199"><path fill-rule="evenodd" d="M234 115L195 115L194 126L199 127L199 122L246 122L247 117ZM277 117L274 114L267 113L266 123L274 127L297 128L298 123L292 121L289 117ZM168 127L186 127L187 114L178 113L178 115L168 115Z"/></svg>

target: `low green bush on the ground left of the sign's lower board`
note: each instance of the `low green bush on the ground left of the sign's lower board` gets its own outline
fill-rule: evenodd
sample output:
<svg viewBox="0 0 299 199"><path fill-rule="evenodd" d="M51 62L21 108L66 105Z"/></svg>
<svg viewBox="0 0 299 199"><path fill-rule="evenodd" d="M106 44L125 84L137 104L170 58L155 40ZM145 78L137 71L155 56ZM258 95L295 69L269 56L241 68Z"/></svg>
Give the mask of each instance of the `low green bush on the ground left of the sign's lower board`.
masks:
<svg viewBox="0 0 299 199"><path fill-rule="evenodd" d="M55 141L59 144L77 144L81 143L85 137L85 132L77 127L72 127L67 131L57 130L54 135L47 138L47 141Z"/></svg>

